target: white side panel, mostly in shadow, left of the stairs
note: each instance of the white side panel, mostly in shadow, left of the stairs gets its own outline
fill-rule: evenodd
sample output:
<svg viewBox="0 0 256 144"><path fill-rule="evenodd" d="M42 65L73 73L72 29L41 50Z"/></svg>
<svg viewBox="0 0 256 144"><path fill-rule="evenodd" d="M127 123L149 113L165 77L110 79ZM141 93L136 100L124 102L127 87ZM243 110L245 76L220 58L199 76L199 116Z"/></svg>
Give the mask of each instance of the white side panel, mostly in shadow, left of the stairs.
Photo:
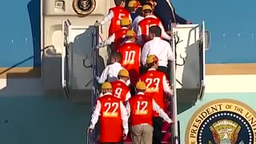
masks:
<svg viewBox="0 0 256 144"><path fill-rule="evenodd" d="M93 86L94 26L73 26L63 21L62 87L65 91Z"/></svg>

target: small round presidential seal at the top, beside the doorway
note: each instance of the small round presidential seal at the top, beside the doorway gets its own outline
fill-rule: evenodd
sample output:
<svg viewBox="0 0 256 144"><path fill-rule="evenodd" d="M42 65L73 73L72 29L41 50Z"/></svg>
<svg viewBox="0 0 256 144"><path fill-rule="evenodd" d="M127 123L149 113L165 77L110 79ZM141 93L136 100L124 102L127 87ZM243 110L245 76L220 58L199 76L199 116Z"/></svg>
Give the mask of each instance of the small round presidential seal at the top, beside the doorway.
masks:
<svg viewBox="0 0 256 144"><path fill-rule="evenodd" d="M82 16L86 16L92 13L96 6L96 0L74 0L73 9L74 11Z"/></svg>

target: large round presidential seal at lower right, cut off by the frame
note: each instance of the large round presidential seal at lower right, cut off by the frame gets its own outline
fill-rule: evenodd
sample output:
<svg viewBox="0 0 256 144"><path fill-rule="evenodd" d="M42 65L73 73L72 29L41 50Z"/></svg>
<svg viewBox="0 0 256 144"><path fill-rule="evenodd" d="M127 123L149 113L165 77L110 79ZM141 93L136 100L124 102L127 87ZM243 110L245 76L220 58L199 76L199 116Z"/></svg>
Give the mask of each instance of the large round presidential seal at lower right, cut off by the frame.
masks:
<svg viewBox="0 0 256 144"><path fill-rule="evenodd" d="M186 144L255 144L256 112L242 102L206 103L186 127Z"/></svg>

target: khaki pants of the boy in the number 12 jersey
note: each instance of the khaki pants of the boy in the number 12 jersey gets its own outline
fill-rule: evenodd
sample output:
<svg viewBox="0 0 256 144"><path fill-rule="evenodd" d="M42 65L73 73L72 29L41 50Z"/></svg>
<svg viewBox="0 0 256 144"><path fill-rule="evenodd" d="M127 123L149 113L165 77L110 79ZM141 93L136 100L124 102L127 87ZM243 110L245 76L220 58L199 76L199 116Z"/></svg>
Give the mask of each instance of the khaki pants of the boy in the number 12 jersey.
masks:
<svg viewBox="0 0 256 144"><path fill-rule="evenodd" d="M134 144L152 144L153 126L135 125L131 127L131 138Z"/></svg>

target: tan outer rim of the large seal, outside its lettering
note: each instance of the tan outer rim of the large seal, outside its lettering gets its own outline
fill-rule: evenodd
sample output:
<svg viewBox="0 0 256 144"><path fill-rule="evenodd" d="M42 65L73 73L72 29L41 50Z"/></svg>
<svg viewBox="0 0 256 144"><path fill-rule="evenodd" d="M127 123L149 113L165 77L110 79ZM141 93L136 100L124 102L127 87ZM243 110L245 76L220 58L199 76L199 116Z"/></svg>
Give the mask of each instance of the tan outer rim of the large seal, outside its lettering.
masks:
<svg viewBox="0 0 256 144"><path fill-rule="evenodd" d="M190 134L190 127L192 126L194 119L198 116L198 114L200 114L203 110L205 110L207 107L212 106L213 104L217 104L217 103L235 103L237 105L241 105L242 107L245 107L247 110L249 110L251 112L251 114L253 114L254 116L256 116L256 111L254 109L252 109L250 106L246 105L246 103L244 102L240 102L238 100L234 100L234 99L229 99L229 98L223 98L223 99L217 99L214 101L210 101L210 102L206 102L204 105L202 105L201 107L198 108L198 110L196 110L194 112L194 114L190 117L190 121L187 123L186 125L186 132L185 132L185 144L190 144L187 140L189 139L189 134ZM201 125L200 125L201 126Z"/></svg>

